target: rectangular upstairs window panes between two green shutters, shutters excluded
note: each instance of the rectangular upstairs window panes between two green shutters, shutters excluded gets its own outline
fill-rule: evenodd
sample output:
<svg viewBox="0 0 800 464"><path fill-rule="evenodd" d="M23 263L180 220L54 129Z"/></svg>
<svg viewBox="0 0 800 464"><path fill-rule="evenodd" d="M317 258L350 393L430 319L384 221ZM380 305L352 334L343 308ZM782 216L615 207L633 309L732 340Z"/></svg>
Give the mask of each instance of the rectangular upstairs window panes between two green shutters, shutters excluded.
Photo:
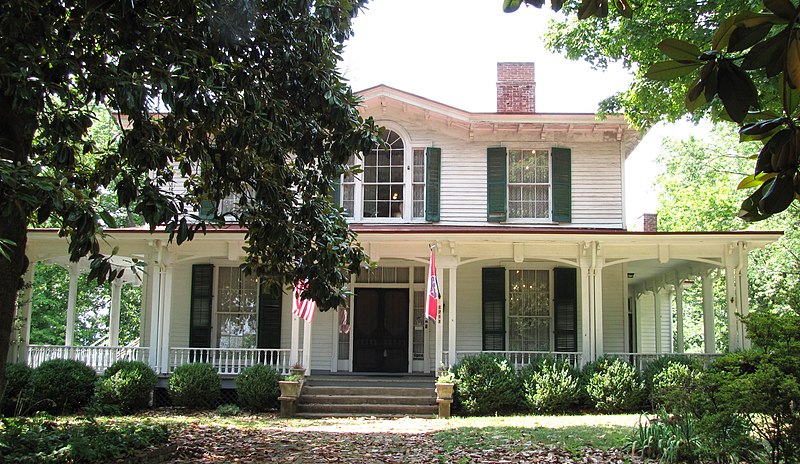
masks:
<svg viewBox="0 0 800 464"><path fill-rule="evenodd" d="M508 151L508 217L550 217L550 151Z"/></svg>

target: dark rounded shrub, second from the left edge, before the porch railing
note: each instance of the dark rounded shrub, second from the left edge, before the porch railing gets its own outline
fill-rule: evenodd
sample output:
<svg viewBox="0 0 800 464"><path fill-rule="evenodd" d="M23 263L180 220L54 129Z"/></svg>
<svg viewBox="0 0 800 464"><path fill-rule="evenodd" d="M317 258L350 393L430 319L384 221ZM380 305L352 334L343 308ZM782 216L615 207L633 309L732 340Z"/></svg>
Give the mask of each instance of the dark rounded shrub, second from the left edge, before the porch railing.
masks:
<svg viewBox="0 0 800 464"><path fill-rule="evenodd" d="M31 375L32 407L54 414L77 411L92 398L96 379L94 369L80 361L45 361Z"/></svg>

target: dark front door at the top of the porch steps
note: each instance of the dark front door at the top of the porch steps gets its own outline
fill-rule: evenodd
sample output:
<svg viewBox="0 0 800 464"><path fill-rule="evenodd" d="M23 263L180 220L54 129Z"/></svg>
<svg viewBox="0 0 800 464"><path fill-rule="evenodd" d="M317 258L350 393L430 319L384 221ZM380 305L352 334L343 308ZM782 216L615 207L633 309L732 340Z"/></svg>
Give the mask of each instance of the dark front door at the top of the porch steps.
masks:
<svg viewBox="0 0 800 464"><path fill-rule="evenodd" d="M408 372L408 290L357 288L353 370Z"/></svg>

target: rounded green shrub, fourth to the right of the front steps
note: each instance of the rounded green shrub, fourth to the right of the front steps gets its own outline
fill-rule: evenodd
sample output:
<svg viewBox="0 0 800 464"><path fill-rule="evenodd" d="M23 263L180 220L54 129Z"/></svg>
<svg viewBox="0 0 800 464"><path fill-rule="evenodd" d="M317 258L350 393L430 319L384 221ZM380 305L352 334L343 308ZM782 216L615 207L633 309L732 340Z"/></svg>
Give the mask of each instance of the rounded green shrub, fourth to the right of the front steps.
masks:
<svg viewBox="0 0 800 464"><path fill-rule="evenodd" d="M686 414L691 409L691 395L697 390L700 374L699 368L690 364L667 363L650 381L650 404L671 413Z"/></svg>

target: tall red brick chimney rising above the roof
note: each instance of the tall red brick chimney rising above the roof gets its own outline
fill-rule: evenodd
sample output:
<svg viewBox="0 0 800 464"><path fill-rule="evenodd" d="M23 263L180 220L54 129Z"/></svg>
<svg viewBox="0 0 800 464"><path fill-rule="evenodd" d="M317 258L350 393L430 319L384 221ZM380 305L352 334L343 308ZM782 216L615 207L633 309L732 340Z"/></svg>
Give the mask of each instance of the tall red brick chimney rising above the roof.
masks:
<svg viewBox="0 0 800 464"><path fill-rule="evenodd" d="M497 63L497 112L535 113L533 63Z"/></svg>

